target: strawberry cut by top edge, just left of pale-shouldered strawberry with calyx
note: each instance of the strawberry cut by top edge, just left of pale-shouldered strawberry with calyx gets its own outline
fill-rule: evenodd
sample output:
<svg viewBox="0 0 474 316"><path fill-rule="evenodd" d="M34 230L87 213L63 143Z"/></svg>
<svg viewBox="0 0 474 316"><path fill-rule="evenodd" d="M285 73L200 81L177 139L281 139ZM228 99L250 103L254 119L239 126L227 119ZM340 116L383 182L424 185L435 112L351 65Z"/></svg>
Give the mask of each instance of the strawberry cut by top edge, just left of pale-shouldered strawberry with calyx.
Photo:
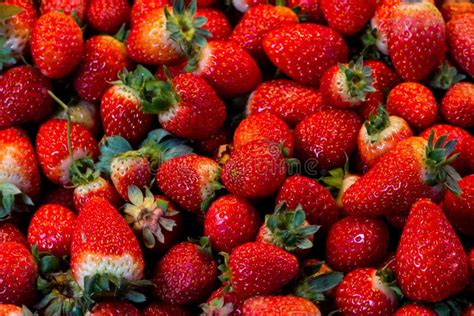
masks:
<svg viewBox="0 0 474 316"><path fill-rule="evenodd" d="M100 33L117 32L128 22L129 16L130 5L127 0L89 0L87 21Z"/></svg>

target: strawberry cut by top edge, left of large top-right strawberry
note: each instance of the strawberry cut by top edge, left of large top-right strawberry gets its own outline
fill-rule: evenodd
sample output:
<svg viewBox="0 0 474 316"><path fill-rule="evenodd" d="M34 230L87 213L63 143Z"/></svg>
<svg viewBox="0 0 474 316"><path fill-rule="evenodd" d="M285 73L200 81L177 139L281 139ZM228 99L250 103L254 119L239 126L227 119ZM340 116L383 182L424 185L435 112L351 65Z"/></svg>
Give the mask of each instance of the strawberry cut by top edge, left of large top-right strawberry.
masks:
<svg viewBox="0 0 474 316"><path fill-rule="evenodd" d="M352 35L365 26L375 12L375 0L349 0L345 3L320 0L330 27L343 35Z"/></svg>

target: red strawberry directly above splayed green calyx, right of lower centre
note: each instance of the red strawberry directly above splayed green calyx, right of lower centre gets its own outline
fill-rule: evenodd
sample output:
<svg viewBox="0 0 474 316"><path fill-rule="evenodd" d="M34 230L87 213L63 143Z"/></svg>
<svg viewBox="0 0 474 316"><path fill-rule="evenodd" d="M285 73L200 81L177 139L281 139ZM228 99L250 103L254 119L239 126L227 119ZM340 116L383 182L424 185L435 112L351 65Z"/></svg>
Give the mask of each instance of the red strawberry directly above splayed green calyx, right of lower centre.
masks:
<svg viewBox="0 0 474 316"><path fill-rule="evenodd" d="M288 177L280 188L276 203L283 201L290 209L301 205L308 222L321 226L323 232L327 232L339 218L339 209L331 193L309 177Z"/></svg>

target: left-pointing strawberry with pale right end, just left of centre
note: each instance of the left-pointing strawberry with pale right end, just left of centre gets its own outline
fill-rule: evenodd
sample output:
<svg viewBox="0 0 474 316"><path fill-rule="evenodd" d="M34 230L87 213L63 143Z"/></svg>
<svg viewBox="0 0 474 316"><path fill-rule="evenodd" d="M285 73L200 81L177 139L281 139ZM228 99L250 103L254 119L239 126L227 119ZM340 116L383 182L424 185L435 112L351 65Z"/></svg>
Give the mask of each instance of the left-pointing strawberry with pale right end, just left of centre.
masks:
<svg viewBox="0 0 474 316"><path fill-rule="evenodd" d="M170 159L158 168L156 184L163 194L186 211L205 210L222 188L219 165L203 156Z"/></svg>

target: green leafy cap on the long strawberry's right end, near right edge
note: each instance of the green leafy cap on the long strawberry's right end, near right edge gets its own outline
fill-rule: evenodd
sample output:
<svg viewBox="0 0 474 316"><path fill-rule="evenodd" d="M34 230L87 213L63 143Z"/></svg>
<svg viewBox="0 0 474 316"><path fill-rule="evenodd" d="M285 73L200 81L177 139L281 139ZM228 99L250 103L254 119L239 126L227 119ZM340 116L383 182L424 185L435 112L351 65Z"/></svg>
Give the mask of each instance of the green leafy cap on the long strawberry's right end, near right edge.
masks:
<svg viewBox="0 0 474 316"><path fill-rule="evenodd" d="M459 154L453 155L457 140L446 142L447 138L448 135L442 135L434 142L434 131L431 131L426 146L425 183L430 186L442 184L446 189L459 196L461 188L458 181L461 180L461 176L450 165L459 156Z"/></svg>

